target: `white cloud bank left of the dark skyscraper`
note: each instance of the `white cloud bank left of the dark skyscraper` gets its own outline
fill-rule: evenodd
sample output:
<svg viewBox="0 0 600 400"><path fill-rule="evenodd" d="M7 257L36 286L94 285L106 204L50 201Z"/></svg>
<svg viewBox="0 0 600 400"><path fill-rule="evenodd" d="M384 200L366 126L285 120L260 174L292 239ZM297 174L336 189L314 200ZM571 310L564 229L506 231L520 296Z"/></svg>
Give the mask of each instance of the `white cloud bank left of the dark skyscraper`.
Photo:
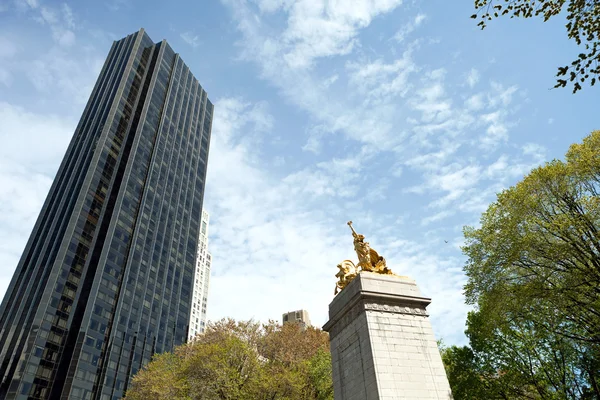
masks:
<svg viewBox="0 0 600 400"><path fill-rule="evenodd" d="M0 102L0 293L31 233L75 123ZM18 132L18 135L15 133Z"/></svg>

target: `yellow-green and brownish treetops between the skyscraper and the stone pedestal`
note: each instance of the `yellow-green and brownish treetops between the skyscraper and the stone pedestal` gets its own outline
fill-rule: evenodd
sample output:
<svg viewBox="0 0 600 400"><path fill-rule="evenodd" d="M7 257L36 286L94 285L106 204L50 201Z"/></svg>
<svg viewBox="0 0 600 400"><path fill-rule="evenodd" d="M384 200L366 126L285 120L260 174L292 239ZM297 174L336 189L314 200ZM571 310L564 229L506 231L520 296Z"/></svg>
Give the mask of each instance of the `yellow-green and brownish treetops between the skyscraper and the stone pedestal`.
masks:
<svg viewBox="0 0 600 400"><path fill-rule="evenodd" d="M321 330L224 319L156 356L126 399L333 399L329 339Z"/></svg>

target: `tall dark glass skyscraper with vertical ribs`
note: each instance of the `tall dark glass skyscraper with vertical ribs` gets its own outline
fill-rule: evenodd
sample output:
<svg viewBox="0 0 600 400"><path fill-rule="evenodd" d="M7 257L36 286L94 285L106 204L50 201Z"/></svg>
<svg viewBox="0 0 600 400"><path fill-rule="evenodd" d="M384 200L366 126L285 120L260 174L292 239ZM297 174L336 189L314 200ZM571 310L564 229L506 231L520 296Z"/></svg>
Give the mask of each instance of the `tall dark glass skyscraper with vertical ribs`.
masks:
<svg viewBox="0 0 600 400"><path fill-rule="evenodd" d="M0 306L0 399L119 399L186 341L212 113L166 41L113 43Z"/></svg>

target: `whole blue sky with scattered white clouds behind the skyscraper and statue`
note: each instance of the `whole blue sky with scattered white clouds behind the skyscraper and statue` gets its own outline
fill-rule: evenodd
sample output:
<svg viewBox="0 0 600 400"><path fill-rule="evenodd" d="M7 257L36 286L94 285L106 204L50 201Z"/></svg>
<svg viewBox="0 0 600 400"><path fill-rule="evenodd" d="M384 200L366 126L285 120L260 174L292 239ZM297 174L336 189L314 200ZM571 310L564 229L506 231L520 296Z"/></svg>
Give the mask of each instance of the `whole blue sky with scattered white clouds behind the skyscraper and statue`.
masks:
<svg viewBox="0 0 600 400"><path fill-rule="evenodd" d="M346 222L463 344L460 246L495 194L598 129L598 90L551 89L563 16L473 2L0 0L0 294L114 40L166 39L215 104L208 317L327 321Z"/></svg>

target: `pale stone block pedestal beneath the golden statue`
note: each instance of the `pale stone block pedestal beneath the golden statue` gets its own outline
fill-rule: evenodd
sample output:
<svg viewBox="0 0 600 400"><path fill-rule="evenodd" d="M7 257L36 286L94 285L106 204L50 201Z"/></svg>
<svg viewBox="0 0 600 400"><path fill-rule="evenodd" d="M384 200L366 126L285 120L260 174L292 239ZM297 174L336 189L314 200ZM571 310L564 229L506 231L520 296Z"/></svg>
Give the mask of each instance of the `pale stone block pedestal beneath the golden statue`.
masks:
<svg viewBox="0 0 600 400"><path fill-rule="evenodd" d="M423 297L408 278L361 272L329 305L335 400L452 399Z"/></svg>

